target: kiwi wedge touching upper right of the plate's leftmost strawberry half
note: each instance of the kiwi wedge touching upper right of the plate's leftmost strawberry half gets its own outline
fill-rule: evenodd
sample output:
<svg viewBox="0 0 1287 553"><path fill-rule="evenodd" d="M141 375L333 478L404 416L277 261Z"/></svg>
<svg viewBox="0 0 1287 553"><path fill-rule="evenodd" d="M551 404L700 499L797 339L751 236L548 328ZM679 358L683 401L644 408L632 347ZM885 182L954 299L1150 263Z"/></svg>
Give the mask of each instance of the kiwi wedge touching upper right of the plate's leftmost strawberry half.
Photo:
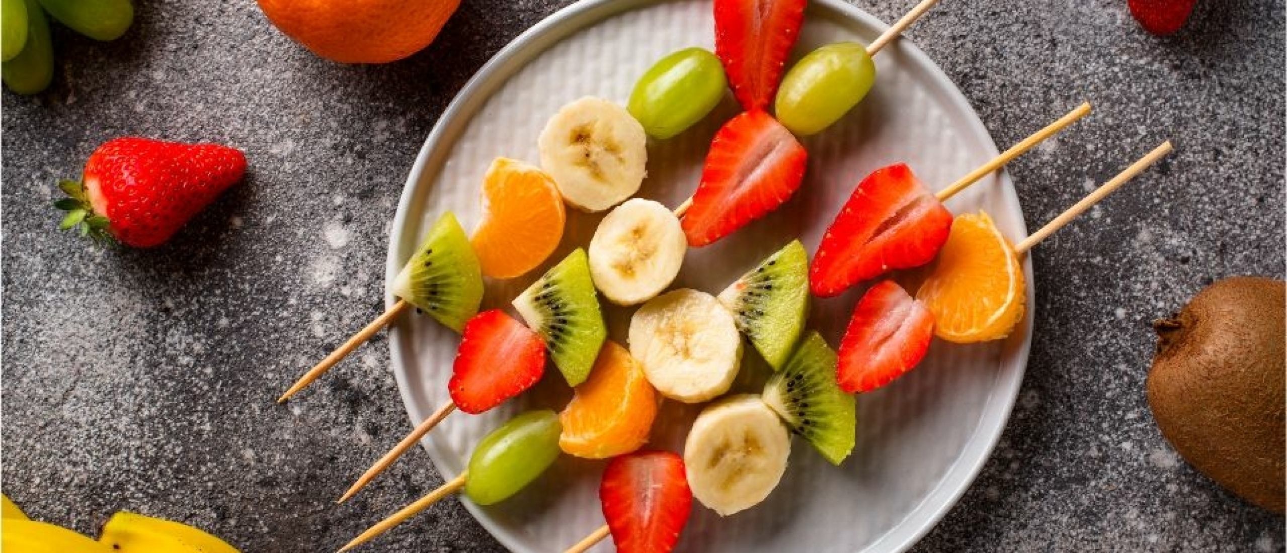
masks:
<svg viewBox="0 0 1287 553"><path fill-rule="evenodd" d="M514 309L546 341L550 358L569 386L589 377L607 338L607 325L598 310L586 249L577 248L532 283L514 298Z"/></svg>

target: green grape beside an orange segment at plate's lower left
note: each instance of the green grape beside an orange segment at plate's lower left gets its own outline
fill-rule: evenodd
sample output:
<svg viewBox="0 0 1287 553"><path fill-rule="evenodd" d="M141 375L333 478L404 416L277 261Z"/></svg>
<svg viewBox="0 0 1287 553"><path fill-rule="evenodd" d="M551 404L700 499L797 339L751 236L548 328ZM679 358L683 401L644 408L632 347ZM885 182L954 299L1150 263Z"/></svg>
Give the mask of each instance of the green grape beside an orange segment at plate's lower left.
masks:
<svg viewBox="0 0 1287 553"><path fill-rule="evenodd" d="M550 409L517 415L486 435L470 457L465 495L480 505L508 499L559 457L559 414Z"/></svg>

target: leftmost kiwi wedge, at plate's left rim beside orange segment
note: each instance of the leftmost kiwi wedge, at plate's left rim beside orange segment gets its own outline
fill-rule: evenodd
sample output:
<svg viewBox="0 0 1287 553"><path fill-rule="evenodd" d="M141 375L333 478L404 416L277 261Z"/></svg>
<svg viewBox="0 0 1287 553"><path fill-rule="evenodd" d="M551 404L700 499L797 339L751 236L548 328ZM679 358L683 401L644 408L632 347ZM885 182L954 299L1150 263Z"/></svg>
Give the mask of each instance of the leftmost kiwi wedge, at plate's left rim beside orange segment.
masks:
<svg viewBox="0 0 1287 553"><path fill-rule="evenodd" d="M398 273L393 291L456 332L477 315L483 269L456 215L448 211L438 219L420 249Z"/></svg>

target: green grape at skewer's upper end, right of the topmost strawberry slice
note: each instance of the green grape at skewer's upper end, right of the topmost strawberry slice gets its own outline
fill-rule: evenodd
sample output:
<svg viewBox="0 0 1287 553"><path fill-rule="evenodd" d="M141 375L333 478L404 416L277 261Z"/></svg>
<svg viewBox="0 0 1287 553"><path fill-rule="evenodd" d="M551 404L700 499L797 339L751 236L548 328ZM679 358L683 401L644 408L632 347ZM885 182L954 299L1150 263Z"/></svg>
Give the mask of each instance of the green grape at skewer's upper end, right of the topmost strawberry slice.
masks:
<svg viewBox="0 0 1287 553"><path fill-rule="evenodd" d="M807 136L840 120L862 102L876 80L876 66L867 49L856 42L819 48L786 72L777 89L773 112L777 121Z"/></svg>

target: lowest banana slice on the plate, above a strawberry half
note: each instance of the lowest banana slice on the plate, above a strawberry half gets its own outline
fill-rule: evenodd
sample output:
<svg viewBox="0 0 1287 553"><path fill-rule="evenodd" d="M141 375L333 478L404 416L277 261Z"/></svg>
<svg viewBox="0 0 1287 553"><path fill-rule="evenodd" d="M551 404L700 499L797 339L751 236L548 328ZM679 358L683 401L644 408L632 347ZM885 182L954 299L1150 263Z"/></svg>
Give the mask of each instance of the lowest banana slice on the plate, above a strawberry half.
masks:
<svg viewBox="0 0 1287 553"><path fill-rule="evenodd" d="M759 396L741 394L705 408L683 445L692 495L727 517L759 504L786 472L792 439Z"/></svg>

